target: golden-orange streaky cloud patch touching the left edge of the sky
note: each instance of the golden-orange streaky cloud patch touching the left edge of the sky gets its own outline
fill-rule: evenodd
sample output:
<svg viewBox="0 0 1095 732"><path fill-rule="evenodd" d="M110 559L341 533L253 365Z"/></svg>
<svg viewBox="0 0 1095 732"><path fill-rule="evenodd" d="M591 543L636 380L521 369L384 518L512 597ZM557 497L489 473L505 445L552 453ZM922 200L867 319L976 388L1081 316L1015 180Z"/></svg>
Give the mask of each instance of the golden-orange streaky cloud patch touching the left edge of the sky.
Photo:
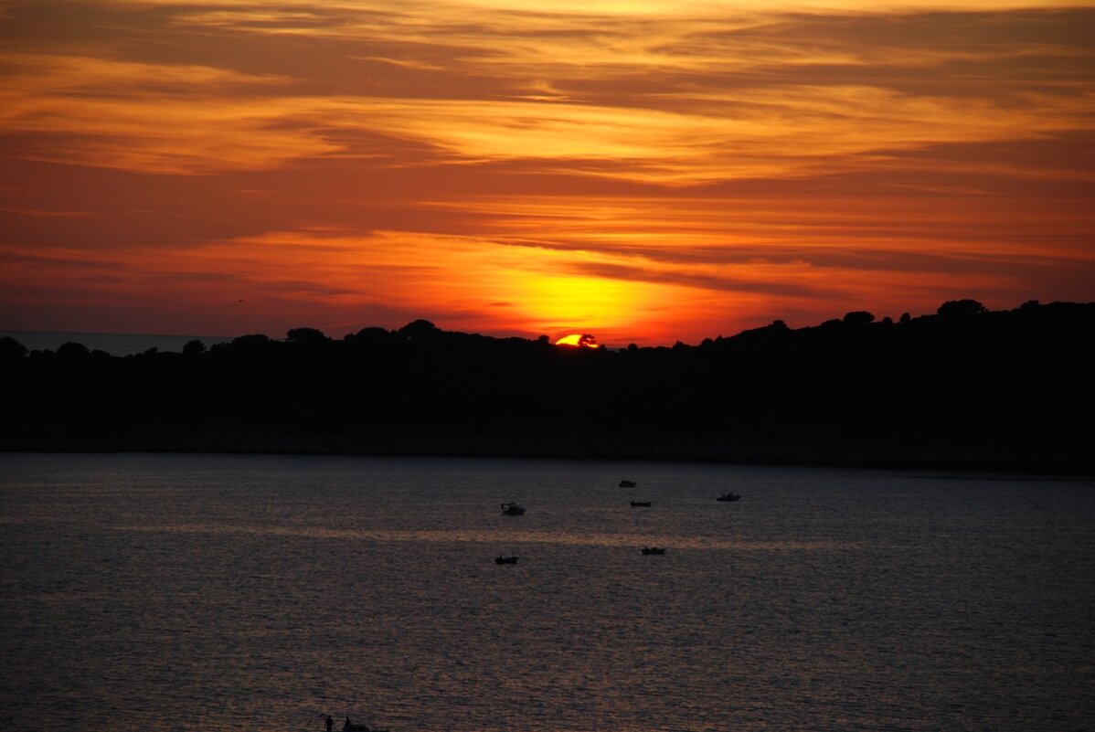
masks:
<svg viewBox="0 0 1095 732"><path fill-rule="evenodd" d="M334 149L286 129L291 100L247 101L269 75L61 54L5 54L0 130L7 154L155 173L267 167ZM31 138L30 136L33 136Z"/></svg>

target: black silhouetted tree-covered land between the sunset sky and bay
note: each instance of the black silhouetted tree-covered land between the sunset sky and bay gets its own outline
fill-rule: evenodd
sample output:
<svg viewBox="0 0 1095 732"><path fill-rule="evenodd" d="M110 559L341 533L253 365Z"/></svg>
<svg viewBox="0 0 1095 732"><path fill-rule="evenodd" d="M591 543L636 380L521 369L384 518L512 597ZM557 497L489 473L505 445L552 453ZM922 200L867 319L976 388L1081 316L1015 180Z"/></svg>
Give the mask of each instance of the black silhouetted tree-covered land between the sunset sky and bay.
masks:
<svg viewBox="0 0 1095 732"><path fill-rule="evenodd" d="M1087 470L1095 303L565 348L296 328L125 358L0 340L3 450L567 455Z"/></svg>

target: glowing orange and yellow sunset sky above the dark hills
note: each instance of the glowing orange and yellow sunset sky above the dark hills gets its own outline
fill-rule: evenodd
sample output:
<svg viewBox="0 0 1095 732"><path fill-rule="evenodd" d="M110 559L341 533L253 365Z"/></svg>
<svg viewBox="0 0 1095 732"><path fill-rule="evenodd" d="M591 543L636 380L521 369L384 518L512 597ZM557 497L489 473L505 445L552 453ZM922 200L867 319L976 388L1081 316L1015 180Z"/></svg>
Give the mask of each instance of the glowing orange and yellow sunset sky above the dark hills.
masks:
<svg viewBox="0 0 1095 732"><path fill-rule="evenodd" d="M1095 2L0 9L0 329L671 345L1095 300Z"/></svg>

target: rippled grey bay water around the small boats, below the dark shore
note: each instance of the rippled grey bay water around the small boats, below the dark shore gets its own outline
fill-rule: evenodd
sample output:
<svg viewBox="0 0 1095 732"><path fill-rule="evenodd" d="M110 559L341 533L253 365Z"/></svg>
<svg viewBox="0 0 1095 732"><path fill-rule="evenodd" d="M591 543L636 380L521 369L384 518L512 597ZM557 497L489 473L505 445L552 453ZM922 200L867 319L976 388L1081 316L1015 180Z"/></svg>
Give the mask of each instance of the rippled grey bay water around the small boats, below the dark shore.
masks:
<svg viewBox="0 0 1095 732"><path fill-rule="evenodd" d="M1095 729L1084 480L0 454L0 550L5 730Z"/></svg>

